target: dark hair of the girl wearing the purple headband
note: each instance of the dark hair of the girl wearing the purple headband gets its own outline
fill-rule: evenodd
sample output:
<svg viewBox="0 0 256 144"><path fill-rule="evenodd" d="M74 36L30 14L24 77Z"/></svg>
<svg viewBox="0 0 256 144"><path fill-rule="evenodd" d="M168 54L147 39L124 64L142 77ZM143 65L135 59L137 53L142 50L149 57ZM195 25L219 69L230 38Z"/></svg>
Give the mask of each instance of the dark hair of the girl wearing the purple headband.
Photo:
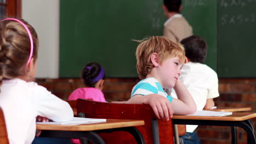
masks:
<svg viewBox="0 0 256 144"><path fill-rule="evenodd" d="M95 87L95 84L98 81L93 81L101 72L101 67L100 64L96 62L91 62L85 65L83 71L82 71L82 78L84 80L84 85L87 87ZM105 74L102 78L103 80L105 79Z"/></svg>

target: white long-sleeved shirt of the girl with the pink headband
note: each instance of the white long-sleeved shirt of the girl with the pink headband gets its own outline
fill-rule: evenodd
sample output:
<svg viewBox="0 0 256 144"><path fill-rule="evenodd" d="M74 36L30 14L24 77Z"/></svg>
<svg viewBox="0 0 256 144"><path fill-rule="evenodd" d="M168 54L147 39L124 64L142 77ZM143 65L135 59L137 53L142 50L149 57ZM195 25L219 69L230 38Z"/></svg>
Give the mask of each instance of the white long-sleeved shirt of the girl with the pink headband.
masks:
<svg viewBox="0 0 256 144"><path fill-rule="evenodd" d="M20 79L3 80L0 106L4 112L9 143L32 143L36 117L69 121L73 111L66 101L57 98L35 82Z"/></svg>

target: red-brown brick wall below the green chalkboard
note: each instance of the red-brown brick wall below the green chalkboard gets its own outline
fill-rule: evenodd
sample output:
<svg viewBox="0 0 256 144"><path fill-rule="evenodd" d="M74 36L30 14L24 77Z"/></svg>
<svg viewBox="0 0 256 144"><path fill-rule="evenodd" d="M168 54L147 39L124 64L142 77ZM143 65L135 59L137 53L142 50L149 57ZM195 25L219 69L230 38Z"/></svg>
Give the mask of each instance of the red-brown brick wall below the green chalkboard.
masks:
<svg viewBox="0 0 256 144"><path fill-rule="evenodd" d="M139 79L106 79L103 93L107 101L127 100L130 98L132 87ZM62 99L67 99L71 92L84 87L80 79L37 79L39 85ZM219 79L220 97L214 99L217 106L246 106L256 112L256 79ZM252 119L254 129L256 118ZM229 127L199 126L196 129L201 143L231 143ZM247 135L241 128L237 129L238 143L247 143Z"/></svg>

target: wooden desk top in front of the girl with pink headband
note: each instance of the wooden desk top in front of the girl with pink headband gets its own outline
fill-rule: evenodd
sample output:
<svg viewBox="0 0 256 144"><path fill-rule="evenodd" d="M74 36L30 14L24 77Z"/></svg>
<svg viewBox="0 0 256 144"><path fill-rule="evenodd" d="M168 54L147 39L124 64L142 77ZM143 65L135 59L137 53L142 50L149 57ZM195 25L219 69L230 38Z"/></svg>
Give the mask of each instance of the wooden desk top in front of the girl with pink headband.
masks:
<svg viewBox="0 0 256 144"><path fill-rule="evenodd" d="M80 125L53 125L53 124L37 124L38 130L67 130L67 131L91 131L102 129L113 129L123 127L134 127L144 125L142 120L131 119L107 119L107 122L80 124Z"/></svg>

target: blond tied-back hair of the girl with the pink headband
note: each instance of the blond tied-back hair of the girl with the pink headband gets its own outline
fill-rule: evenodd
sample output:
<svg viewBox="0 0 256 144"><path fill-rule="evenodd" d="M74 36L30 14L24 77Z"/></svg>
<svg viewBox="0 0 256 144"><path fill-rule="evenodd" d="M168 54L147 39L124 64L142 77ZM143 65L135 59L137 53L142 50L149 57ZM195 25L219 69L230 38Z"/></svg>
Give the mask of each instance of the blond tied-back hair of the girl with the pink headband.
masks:
<svg viewBox="0 0 256 144"><path fill-rule="evenodd" d="M36 61L38 52L38 37L34 28L20 19L30 29L33 38L32 57ZM14 79L18 76L27 76L33 79L26 67L30 55L30 38L24 26L13 20L0 22L0 86L2 79Z"/></svg>

